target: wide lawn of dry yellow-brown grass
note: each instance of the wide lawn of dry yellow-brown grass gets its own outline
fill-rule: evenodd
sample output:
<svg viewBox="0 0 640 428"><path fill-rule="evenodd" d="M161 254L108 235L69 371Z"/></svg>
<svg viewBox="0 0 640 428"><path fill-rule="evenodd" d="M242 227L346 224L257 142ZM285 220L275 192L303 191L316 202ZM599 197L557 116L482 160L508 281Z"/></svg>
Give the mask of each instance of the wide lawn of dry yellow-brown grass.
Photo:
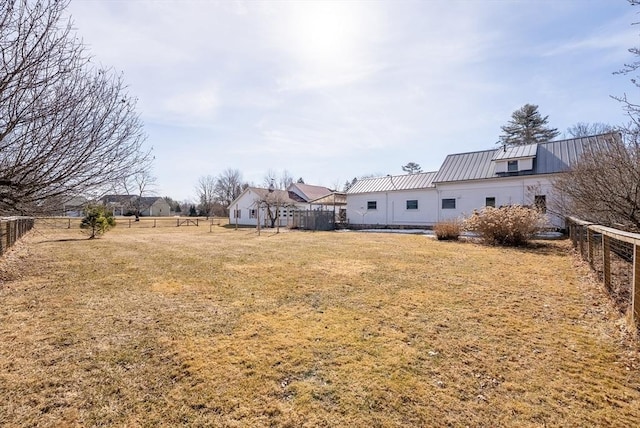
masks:
<svg viewBox="0 0 640 428"><path fill-rule="evenodd" d="M40 228L2 273L0 426L640 420L637 348L563 242Z"/></svg>

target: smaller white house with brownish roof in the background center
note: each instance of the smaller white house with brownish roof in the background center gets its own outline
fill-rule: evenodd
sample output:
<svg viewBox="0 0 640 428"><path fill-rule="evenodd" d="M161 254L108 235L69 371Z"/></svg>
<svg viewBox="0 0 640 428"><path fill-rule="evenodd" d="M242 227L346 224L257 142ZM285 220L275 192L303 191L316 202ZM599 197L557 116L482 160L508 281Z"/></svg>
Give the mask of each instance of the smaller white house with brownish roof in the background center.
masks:
<svg viewBox="0 0 640 428"><path fill-rule="evenodd" d="M320 209L321 204L312 201L331 194L331 190L322 186L293 183L287 190L269 190L259 187L248 187L229 205L229 224L240 226L270 226L267 210L271 217L278 213L280 226L288 226L294 211Z"/></svg>

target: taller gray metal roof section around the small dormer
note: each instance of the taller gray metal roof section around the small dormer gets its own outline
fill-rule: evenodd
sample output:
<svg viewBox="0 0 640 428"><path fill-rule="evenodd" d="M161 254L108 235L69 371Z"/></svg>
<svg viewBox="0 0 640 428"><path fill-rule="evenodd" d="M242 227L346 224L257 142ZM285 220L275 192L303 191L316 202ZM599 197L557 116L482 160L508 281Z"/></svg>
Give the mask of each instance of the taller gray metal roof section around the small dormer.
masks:
<svg viewBox="0 0 640 428"><path fill-rule="evenodd" d="M523 146L526 147L526 149L522 151L513 150L509 152L509 148L507 148L507 154L510 155L509 157L500 157L500 152L504 153L503 148L449 155L442 163L442 167L433 179L433 182L479 180L510 177L514 175L554 174L566 171L580 158L583 152L605 148L607 141L609 141L612 136L613 138L620 138L619 134L601 134L531 145L536 148L533 170L520 171L518 173L497 174L493 160L512 159L513 157L511 155L513 154L518 154L519 158L531 157L520 156L521 154L527 153L527 150L531 150L529 146Z"/></svg>

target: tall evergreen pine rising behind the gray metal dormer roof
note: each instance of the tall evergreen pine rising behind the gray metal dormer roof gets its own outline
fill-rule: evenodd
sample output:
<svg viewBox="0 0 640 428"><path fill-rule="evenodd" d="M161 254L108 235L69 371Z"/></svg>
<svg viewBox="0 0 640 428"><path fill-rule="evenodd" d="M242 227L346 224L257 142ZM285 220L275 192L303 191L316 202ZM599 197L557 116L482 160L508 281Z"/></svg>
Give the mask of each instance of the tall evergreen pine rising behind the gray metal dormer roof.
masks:
<svg viewBox="0 0 640 428"><path fill-rule="evenodd" d="M513 112L508 124L501 127L503 134L498 144L523 146L553 140L560 132L557 128L547 128L548 118L540 115L537 105L525 104Z"/></svg>

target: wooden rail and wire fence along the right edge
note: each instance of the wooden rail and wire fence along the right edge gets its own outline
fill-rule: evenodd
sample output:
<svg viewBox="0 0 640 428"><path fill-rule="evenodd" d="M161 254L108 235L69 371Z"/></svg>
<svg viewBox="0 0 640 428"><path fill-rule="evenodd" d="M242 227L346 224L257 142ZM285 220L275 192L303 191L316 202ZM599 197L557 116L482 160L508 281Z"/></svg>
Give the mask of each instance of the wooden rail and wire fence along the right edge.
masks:
<svg viewBox="0 0 640 428"><path fill-rule="evenodd" d="M621 312L640 322L640 234L567 218L573 247L589 262Z"/></svg>

